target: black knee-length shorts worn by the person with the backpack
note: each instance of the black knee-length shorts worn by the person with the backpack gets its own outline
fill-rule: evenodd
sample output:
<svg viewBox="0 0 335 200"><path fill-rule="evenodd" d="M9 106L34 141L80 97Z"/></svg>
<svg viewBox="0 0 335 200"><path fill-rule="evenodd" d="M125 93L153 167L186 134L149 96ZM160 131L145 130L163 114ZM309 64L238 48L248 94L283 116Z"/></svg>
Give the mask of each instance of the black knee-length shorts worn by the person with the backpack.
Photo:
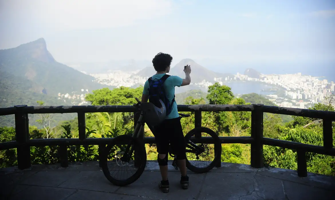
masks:
<svg viewBox="0 0 335 200"><path fill-rule="evenodd" d="M186 145L180 117L165 119L160 125L154 127L154 136L157 144L158 154L169 153L169 143L171 143L172 154L178 160L186 159Z"/></svg>

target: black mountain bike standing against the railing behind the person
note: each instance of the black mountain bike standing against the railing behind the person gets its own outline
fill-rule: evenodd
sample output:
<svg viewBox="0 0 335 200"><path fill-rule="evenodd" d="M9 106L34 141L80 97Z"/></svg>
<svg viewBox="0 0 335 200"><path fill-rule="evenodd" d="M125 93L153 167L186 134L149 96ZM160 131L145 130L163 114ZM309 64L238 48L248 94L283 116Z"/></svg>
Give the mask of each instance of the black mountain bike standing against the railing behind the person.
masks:
<svg viewBox="0 0 335 200"><path fill-rule="evenodd" d="M141 102L135 98L137 104L134 104L136 108L141 108ZM189 117L189 114L179 113L181 118ZM140 140L140 132L145 125L145 113L141 111L140 117L136 122L133 134L119 135L115 137L110 144L107 145L102 155L102 170L105 177L114 185L125 186L135 182L144 172L147 161L147 151L144 143ZM154 133L154 128L149 126L149 129ZM207 142L204 144L195 144L191 140L197 140L203 137L202 134L208 134L210 137L205 137ZM144 133L143 133L144 134ZM200 137L199 137L200 136ZM189 131L185 135L186 141L186 167L195 173L205 173L213 169L217 162L221 162L221 142L218 135L211 129L206 127L198 127ZM213 152L208 152L208 145L213 146ZM136 160L134 159L136 155ZM177 158L172 151L171 144L169 155L174 157L172 165L178 170ZM190 155L195 155L191 157ZM210 159L212 158L212 159ZM209 165L204 167L196 167L193 164L199 163L204 164L204 161L199 159L210 159ZM136 164L135 164L136 162ZM112 169L110 169L112 167ZM132 176L125 178L121 176L121 179L115 178L112 175L116 172L113 170L115 167L129 167L127 170L122 172L133 172ZM117 176L119 177L119 176Z"/></svg>

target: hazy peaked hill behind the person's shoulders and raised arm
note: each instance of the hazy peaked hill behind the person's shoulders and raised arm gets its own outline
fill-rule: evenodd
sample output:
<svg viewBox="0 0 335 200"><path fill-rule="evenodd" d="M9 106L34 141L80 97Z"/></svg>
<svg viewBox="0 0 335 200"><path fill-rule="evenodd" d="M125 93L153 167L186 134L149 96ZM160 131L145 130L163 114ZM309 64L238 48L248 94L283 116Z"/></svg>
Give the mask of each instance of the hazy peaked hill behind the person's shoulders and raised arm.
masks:
<svg viewBox="0 0 335 200"><path fill-rule="evenodd" d="M206 69L205 67L197 64L191 59L183 59L181 60L178 64L176 64L173 68L170 69L169 75L175 75L179 76L181 78L185 77L184 73L184 66L190 65L192 72L191 72L191 80L192 83L200 83L203 80L206 80L210 83L215 83L214 78L222 78L224 81L224 78L230 76L233 77L232 74L230 73L217 73L213 72L211 70ZM151 67L146 67L139 71L136 75L141 76L141 77L151 77L153 74L155 74L156 71L154 68Z"/></svg>

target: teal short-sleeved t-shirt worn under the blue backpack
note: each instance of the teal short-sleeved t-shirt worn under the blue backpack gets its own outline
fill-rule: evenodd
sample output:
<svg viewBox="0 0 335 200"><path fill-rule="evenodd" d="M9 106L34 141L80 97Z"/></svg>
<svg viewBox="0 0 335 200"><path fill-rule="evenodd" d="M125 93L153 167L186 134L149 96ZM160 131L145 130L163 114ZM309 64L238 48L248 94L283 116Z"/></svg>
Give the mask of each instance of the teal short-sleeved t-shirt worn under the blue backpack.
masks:
<svg viewBox="0 0 335 200"><path fill-rule="evenodd" d="M165 74L155 74L152 76L152 79L158 80L158 79L161 79L164 75ZM172 99L175 96L175 87L176 86L180 87L182 83L183 83L183 79L178 76L170 76L165 80L163 87L166 93L165 95L167 99L169 99L170 103L172 102ZM143 94L149 95L148 88L149 88L149 82L147 80L144 84ZM177 103L175 101L172 105L171 113L166 116L166 119L174 119L177 117L179 117L179 114L178 114L178 109L177 109Z"/></svg>

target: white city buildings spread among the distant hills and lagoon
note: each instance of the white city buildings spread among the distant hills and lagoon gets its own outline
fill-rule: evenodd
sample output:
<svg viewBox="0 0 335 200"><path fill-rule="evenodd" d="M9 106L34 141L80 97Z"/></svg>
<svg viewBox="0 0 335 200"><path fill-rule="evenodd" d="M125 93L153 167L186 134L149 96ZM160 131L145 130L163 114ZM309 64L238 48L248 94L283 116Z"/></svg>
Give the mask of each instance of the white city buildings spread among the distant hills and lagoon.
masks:
<svg viewBox="0 0 335 200"><path fill-rule="evenodd" d="M144 85L144 82L148 77L140 77L136 75L136 72L122 72L120 70L110 73L103 74L90 74L96 80L96 82L105 85L111 85L116 87L132 87L134 85ZM309 108L315 103L323 103L325 97L335 94L335 83L334 81L322 79L319 80L317 77L304 76L301 73L296 74L261 74L260 78L251 78L247 75L237 73L233 77L226 77L224 79L217 77L214 78L215 82L220 85L225 85L231 81L252 81L265 83L272 86L280 87L281 91L284 91L284 95L268 94L264 95L274 104L281 107L290 108ZM200 83L192 83L192 86L198 88L206 88L213 85L213 83L208 82L210 80L203 80ZM233 88L232 88L233 89ZM84 89L81 90L84 92ZM86 90L85 94L88 93ZM85 94L58 94L58 98L64 100L69 100L73 105L88 105L85 101ZM250 92L249 92L250 93ZM248 93L244 93L248 94ZM240 94L239 94L240 95ZM335 102L332 102L335 107Z"/></svg>

